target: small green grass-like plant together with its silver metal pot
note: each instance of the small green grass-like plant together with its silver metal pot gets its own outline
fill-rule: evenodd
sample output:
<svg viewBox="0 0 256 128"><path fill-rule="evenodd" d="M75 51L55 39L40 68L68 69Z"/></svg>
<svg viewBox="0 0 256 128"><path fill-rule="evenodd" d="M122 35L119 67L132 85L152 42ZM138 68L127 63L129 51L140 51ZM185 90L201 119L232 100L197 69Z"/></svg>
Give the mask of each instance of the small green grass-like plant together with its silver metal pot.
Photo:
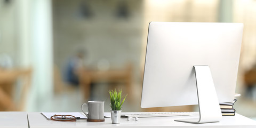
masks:
<svg viewBox="0 0 256 128"><path fill-rule="evenodd" d="M111 119L113 124L119 124L121 119L121 111L122 105L125 101L126 96L124 97L123 101L121 102L122 98L122 90L115 90L108 91L110 96L110 107L111 107Z"/></svg>

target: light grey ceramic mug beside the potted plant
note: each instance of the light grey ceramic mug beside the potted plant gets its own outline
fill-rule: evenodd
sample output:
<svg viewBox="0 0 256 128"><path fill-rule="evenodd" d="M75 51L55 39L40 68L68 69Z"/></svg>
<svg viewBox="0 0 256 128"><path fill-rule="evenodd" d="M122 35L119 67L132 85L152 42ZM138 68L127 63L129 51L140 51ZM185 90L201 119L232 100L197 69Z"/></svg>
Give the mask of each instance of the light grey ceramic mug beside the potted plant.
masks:
<svg viewBox="0 0 256 128"><path fill-rule="evenodd" d="M84 106L87 106L88 114L84 110ZM104 118L104 101L88 101L88 103L83 103L81 109L89 119Z"/></svg>

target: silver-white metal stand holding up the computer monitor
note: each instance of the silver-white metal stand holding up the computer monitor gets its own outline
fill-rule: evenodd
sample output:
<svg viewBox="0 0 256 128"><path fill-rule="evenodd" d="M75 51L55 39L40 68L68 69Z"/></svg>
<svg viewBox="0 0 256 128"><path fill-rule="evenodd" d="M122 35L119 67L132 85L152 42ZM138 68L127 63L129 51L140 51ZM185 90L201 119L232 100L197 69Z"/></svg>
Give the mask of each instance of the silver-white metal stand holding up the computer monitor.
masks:
<svg viewBox="0 0 256 128"><path fill-rule="evenodd" d="M220 105L213 84L209 66L194 66L196 76L197 98L199 117L177 119L174 121L187 123L210 123L219 122L222 119Z"/></svg>

